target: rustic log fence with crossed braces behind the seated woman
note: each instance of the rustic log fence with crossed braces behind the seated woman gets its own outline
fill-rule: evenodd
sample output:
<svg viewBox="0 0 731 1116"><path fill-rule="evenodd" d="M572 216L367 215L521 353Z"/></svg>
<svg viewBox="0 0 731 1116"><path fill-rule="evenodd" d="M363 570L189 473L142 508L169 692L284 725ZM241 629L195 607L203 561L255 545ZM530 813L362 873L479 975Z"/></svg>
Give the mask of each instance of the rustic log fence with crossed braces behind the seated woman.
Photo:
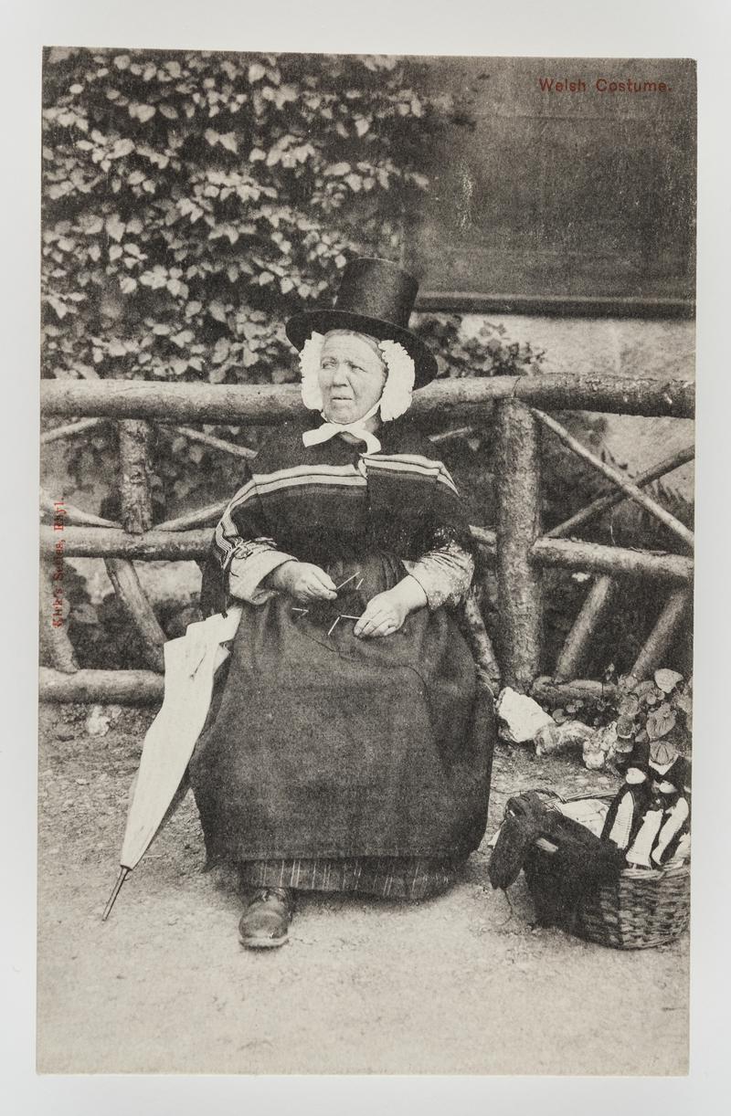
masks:
<svg viewBox="0 0 731 1116"><path fill-rule="evenodd" d="M150 423L172 424L195 439L234 456L252 451L193 430L185 423L275 425L301 411L295 386L237 386L156 384L141 381L45 381L41 412L74 421L41 436L49 442L74 436L89 426L114 420L119 424L122 521L113 522L68 504L62 509L41 496L41 623L42 643L52 667L41 667L40 695L57 702L154 703L163 694L165 639L150 602L143 593L133 559L200 559L209 546L211 526L225 503L212 504L177 519L153 525L147 479ZM494 413L493 413L494 411ZM693 458L693 449L676 453L629 481L596 458L546 411L690 419L694 413L693 385L677 379L644 379L608 376L498 376L449 379L431 384L414 396L412 413L427 426L460 422L479 425L492 415L498 439L498 516L494 530L474 527L473 538L498 579L501 645L499 667L474 603L471 620L478 629L481 667L499 673L504 685L556 701L596 696L606 686L581 679L590 642L616 602L624 578L648 578L667 587L667 600L634 664L632 673L644 677L661 664L686 616L692 597L693 535L644 489L652 481ZM84 417L80 417L84 416ZM540 439L550 430L612 482L613 490L595 500L565 523L541 533ZM439 440L439 439L437 439ZM587 542L573 536L581 526L624 499L642 506L673 531L685 554L633 550ZM62 530L61 530L62 528ZM62 539L64 558L104 558L118 600L135 625L150 670L79 670L62 625L51 628L54 562ZM539 676L541 662L541 570L545 567L584 570L593 575L579 615L568 633L550 677Z"/></svg>

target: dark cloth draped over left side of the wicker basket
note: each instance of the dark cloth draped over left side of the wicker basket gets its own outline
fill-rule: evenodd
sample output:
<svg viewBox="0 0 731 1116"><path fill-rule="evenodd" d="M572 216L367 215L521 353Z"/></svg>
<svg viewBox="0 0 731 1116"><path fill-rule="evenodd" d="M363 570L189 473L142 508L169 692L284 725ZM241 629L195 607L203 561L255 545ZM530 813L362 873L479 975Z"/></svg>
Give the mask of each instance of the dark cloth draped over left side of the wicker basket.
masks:
<svg viewBox="0 0 731 1116"><path fill-rule="evenodd" d="M625 867L624 853L614 845L567 818L536 791L526 791L510 798L506 806L506 819L488 868L493 887L506 888L516 882L541 837L556 845L551 856L556 887L540 912L544 923L565 918L585 894L617 879Z"/></svg>

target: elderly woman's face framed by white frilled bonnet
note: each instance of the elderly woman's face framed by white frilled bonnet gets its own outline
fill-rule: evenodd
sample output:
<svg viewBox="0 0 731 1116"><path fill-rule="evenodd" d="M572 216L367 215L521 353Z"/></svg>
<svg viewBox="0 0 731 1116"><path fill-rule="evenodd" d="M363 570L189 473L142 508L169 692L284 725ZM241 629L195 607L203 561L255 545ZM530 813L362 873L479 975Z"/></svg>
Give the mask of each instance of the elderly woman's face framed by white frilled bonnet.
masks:
<svg viewBox="0 0 731 1116"><path fill-rule="evenodd" d="M363 419L381 398L387 371L374 352L375 344L357 334L325 338L318 381L325 417L330 422Z"/></svg>

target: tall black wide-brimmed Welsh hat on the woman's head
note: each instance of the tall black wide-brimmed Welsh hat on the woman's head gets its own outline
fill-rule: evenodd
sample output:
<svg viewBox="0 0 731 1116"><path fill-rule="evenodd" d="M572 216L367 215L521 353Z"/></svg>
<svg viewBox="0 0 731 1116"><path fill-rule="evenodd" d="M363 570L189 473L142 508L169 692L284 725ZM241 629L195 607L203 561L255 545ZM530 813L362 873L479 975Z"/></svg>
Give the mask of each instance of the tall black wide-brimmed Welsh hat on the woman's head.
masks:
<svg viewBox="0 0 731 1116"><path fill-rule="evenodd" d="M335 306L296 314L287 336L301 349L312 333L354 329L379 341L404 346L414 362L414 387L423 387L437 372L434 354L408 329L419 283L391 260L362 258L346 264Z"/></svg>

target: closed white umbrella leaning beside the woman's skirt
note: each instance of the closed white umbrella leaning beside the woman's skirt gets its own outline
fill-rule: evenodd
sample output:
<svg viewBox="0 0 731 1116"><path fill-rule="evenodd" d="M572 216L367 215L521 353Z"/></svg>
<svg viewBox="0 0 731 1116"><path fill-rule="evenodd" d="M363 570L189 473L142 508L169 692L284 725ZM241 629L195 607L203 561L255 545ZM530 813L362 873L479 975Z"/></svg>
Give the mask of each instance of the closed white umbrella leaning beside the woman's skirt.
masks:
<svg viewBox="0 0 731 1116"><path fill-rule="evenodd" d="M119 889L144 855L172 808L180 801L185 771L211 705L213 679L230 652L221 646L235 635L239 606L189 624L184 636L164 646L165 694L142 748L127 814L119 875L104 908L105 922Z"/></svg>

